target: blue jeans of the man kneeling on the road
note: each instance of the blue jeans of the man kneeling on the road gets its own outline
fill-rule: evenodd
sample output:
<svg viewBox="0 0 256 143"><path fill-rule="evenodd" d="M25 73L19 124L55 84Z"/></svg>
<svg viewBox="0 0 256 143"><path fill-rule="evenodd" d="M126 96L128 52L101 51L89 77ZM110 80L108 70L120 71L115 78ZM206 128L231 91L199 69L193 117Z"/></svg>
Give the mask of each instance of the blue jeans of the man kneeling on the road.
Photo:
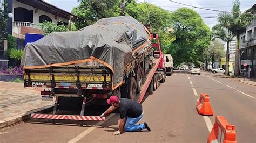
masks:
<svg viewBox="0 0 256 143"><path fill-rule="evenodd" d="M145 128L144 124L139 124L136 125L136 123L142 119L143 117L143 113L137 117L137 118L130 118L130 117L126 117L126 123L124 125L124 129L126 132L131 132L131 131L138 131L138 130L143 130Z"/></svg>

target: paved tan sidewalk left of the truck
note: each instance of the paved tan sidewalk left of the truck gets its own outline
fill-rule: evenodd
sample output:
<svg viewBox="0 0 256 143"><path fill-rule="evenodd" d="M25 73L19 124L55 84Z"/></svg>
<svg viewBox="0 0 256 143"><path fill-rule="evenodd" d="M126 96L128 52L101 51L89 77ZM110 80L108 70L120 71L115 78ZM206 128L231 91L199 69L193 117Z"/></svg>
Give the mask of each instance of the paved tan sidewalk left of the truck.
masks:
<svg viewBox="0 0 256 143"><path fill-rule="evenodd" d="M33 112L52 107L53 101L42 101L41 90L25 89L23 83L0 81L0 128L28 119Z"/></svg>

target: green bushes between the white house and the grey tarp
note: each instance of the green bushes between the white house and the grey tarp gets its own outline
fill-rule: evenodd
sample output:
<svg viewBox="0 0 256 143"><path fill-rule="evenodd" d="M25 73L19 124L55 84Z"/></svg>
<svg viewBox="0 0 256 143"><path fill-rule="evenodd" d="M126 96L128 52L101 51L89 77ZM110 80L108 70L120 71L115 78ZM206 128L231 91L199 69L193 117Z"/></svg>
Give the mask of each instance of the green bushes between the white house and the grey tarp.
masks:
<svg viewBox="0 0 256 143"><path fill-rule="evenodd" d="M43 22L41 24L39 24L39 26L42 28L42 30L44 30L44 34L48 35L52 32L65 32L65 31L69 31L69 26L65 26L65 25L56 25L54 23L51 22ZM71 30L72 31L76 31L76 27L75 25L71 25Z"/></svg>

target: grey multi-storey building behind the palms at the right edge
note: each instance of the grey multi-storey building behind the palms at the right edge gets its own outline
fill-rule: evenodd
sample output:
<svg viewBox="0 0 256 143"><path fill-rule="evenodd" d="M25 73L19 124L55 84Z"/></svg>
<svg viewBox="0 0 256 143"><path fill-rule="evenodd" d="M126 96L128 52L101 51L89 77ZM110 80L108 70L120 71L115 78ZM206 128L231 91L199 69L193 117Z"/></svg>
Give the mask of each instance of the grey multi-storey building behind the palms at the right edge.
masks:
<svg viewBox="0 0 256 143"><path fill-rule="evenodd" d="M251 11L256 14L256 4L247 11ZM246 32L240 36L240 71L246 69L246 76L256 78L256 18L247 27ZM244 67L243 63L247 63L248 66Z"/></svg>

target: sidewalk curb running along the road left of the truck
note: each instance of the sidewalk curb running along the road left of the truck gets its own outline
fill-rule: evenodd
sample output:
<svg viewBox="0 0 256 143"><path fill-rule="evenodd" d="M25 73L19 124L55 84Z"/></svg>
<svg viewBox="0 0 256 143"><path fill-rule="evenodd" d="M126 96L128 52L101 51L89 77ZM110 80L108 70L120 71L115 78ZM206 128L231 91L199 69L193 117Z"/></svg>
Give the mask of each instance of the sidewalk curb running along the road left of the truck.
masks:
<svg viewBox="0 0 256 143"><path fill-rule="evenodd" d="M26 113L19 114L19 115L14 116L14 117L10 117L10 118L0 120L0 128L7 127L7 126L10 126L10 125L16 124L20 121L29 119L31 113L39 112L39 111L42 111L42 110L47 110L49 108L52 108L53 106L54 106L54 104L47 105L47 106L44 106L42 108L33 109L33 110L30 110Z"/></svg>

